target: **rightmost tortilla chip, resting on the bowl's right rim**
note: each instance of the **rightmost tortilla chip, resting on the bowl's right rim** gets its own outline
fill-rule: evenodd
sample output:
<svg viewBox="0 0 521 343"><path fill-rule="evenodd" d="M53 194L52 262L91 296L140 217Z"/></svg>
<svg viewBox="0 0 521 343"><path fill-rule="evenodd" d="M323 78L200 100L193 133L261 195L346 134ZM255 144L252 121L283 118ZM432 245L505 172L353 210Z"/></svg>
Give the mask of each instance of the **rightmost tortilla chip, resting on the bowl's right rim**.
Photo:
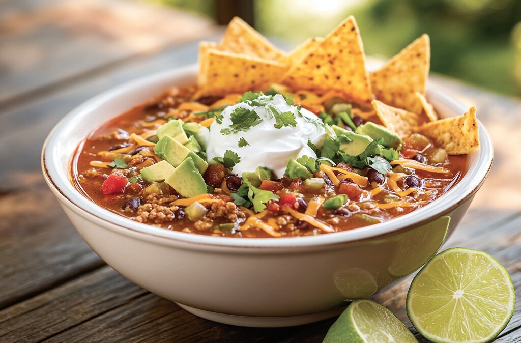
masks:
<svg viewBox="0 0 521 343"><path fill-rule="evenodd" d="M449 155L468 154L479 146L476 107L459 117L431 121L419 127L418 132L433 139Z"/></svg>

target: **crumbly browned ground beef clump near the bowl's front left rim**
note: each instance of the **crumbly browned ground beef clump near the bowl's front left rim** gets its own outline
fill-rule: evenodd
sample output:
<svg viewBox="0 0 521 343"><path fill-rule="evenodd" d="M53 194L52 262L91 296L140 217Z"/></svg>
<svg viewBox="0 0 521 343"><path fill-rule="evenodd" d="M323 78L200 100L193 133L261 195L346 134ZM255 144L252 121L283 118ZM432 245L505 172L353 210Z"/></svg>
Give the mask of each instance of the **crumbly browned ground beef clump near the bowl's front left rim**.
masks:
<svg viewBox="0 0 521 343"><path fill-rule="evenodd" d="M175 196L159 198L156 194L148 195L146 203L138 207L137 216L133 219L140 223L171 222L176 219L175 212L179 209L179 206L172 204L175 200Z"/></svg>

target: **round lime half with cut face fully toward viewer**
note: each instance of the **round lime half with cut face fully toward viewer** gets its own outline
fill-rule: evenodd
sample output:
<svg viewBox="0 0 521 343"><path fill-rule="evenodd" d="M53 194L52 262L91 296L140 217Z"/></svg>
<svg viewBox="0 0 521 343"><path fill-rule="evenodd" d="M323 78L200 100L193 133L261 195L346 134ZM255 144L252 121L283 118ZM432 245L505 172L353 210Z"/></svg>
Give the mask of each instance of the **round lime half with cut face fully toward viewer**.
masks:
<svg viewBox="0 0 521 343"><path fill-rule="evenodd" d="M490 342L514 313L506 269L489 254L463 248L436 255L414 277L407 315L432 342Z"/></svg>

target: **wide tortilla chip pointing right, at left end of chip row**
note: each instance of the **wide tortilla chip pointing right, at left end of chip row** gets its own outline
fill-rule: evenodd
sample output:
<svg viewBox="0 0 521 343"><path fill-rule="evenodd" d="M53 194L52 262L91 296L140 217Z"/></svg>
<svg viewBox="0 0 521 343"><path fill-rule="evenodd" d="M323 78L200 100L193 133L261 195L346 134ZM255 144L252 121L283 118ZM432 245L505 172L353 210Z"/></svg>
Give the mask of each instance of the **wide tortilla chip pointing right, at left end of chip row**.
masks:
<svg viewBox="0 0 521 343"><path fill-rule="evenodd" d="M226 95L265 90L288 69L286 64L208 48L201 57L205 74L199 79L201 95Z"/></svg>

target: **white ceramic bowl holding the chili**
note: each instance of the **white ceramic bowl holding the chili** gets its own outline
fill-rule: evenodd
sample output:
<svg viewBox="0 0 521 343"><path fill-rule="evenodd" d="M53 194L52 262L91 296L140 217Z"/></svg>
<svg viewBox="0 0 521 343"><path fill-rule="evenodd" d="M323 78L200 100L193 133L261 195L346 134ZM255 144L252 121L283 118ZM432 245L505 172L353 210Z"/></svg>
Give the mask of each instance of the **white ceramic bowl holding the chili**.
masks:
<svg viewBox="0 0 521 343"><path fill-rule="evenodd" d="M195 78L196 66L168 70L83 103L49 134L42 168L72 224L105 262L210 320L259 327L305 324L336 315L348 299L370 297L438 251L492 164L492 144L480 124L481 146L469 155L465 177L439 200L386 223L316 237L224 238L165 230L104 210L72 186L71 158L89 132ZM443 117L466 111L440 91L430 89L428 97Z"/></svg>

